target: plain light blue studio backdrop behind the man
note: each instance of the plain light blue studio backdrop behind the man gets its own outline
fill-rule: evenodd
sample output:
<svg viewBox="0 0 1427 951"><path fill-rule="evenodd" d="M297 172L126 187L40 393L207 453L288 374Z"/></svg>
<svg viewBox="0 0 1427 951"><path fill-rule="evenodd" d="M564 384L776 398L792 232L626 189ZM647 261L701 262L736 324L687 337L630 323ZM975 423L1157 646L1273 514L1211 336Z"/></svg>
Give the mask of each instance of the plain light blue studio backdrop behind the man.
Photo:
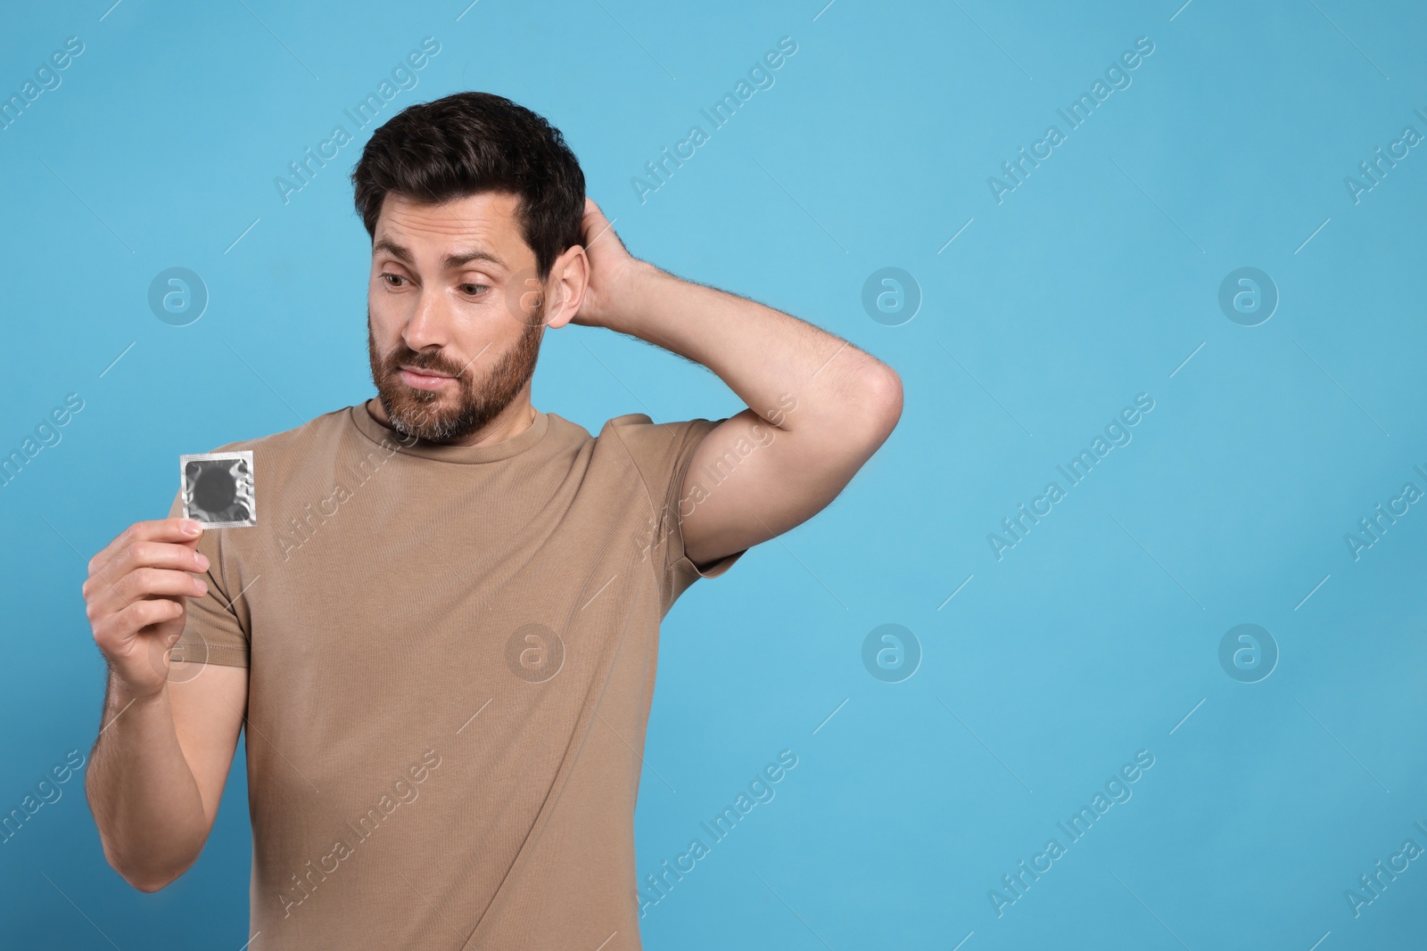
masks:
<svg viewBox="0 0 1427 951"><path fill-rule="evenodd" d="M66 394L84 409L0 488L0 807L88 751L86 562L166 515L178 453L372 394L347 181L370 127L288 204L273 180L432 36L382 121L511 96L565 133L634 254L905 384L848 490L664 626L641 874L779 750L799 761L648 910L648 947L1421 947L1427 860L1360 917L1344 890L1427 845L1427 506L1359 560L1343 536L1427 488L1427 147L1357 204L1344 177L1404 125L1427 134L1427 17L1180 1L7 4L0 94L66 37L86 48L0 131L0 451ZM641 204L631 177L783 36L775 86ZM1142 36L1133 84L997 204L987 177L1065 131L1056 108ZM190 327L147 307L168 267L211 295ZM860 304L883 267L923 294L900 327ZM1281 295L1259 327L1217 304L1240 267ZM996 560L987 533L1142 392L1133 442ZM547 338L534 396L592 432L741 409L589 328ZM862 666L883 623L922 646L902 683ZM1220 667L1239 623L1281 652L1260 683ZM987 891L1137 750L1156 759L1133 798L997 917ZM0 845L10 947L248 940L241 750L203 857L153 895L104 863L81 786Z"/></svg>

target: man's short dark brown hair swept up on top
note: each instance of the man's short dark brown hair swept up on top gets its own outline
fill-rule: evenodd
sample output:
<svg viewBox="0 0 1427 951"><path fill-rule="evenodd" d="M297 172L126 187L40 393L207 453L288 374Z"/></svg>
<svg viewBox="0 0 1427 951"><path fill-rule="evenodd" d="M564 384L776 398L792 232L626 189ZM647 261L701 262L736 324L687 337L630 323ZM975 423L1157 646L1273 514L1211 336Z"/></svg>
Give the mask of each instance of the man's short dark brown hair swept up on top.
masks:
<svg viewBox="0 0 1427 951"><path fill-rule="evenodd" d="M428 204L519 195L517 220L542 281L582 238L585 173L575 153L542 115L491 93L455 93L392 115L362 148L352 185L372 240L388 194Z"/></svg>

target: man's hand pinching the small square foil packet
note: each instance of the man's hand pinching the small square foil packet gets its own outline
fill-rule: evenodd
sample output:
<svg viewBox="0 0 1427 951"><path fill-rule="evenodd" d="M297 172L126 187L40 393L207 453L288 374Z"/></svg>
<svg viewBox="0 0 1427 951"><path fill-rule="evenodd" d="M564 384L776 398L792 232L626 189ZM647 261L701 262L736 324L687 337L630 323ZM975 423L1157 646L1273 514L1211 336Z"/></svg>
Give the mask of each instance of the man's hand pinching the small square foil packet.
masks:
<svg viewBox="0 0 1427 951"><path fill-rule="evenodd" d="M183 634L186 597L208 592L193 573L208 570L193 519L134 522L90 559L84 605L94 643L131 697L158 694L168 652Z"/></svg>

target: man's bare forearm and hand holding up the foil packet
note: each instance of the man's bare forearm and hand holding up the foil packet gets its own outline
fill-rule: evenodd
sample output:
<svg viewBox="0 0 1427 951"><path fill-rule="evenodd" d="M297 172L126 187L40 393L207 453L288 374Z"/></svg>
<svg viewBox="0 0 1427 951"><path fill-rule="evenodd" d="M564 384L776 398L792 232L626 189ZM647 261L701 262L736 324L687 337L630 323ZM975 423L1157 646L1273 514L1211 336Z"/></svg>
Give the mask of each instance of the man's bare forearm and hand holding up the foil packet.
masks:
<svg viewBox="0 0 1427 951"><path fill-rule="evenodd" d="M198 858L247 710L245 667L174 663L186 599L208 569L188 519L137 522L90 560L84 600L108 660L98 740L84 778L104 857L141 891ZM174 676L170 677L170 669Z"/></svg>

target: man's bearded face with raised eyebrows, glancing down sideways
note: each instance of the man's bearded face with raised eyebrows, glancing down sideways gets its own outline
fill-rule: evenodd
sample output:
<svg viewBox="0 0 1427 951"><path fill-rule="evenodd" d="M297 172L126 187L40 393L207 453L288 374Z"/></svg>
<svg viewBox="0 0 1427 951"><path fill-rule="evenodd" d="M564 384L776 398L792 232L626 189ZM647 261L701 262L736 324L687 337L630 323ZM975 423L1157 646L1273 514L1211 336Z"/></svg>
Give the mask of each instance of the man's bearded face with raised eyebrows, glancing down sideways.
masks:
<svg viewBox="0 0 1427 951"><path fill-rule="evenodd" d="M519 198L440 205L387 195L372 241L367 351L377 399L402 435L461 442L528 385L544 332Z"/></svg>

